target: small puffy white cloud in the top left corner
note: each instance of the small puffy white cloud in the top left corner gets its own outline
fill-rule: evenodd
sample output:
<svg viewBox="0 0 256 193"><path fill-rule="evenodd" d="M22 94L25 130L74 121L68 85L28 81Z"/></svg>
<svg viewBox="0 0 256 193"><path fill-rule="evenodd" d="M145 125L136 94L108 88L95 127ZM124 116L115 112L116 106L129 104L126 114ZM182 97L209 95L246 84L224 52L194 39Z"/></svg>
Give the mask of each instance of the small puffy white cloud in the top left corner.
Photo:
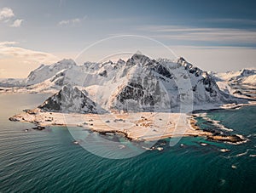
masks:
<svg viewBox="0 0 256 193"><path fill-rule="evenodd" d="M0 9L0 21L9 24L10 27L20 27L21 23L24 21L22 19L16 19L14 11L9 8Z"/></svg>

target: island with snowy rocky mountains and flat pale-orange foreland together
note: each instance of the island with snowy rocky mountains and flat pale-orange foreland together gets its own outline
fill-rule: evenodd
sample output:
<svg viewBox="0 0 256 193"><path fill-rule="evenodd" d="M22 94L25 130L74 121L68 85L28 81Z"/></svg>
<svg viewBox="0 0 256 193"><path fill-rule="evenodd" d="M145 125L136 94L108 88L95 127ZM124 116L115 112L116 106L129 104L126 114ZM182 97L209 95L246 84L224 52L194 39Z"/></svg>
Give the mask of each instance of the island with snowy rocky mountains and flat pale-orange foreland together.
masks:
<svg viewBox="0 0 256 193"><path fill-rule="evenodd" d="M63 62L69 64L66 69L30 89L35 91L44 85L41 90L55 88L55 94L37 108L10 117L10 121L32 122L38 130L61 125L96 133L119 133L134 141L183 136L233 144L246 141L240 135L199 128L195 110L252 105L253 99L224 93L211 75L183 58L151 60L134 54L126 62L109 61L94 67L85 63L83 71L74 62L64 60L52 65L50 73L57 66L59 70ZM41 71L47 68L40 66L32 71L27 82L38 82L36 77L42 78ZM186 85L188 81L191 87ZM49 88L45 87L47 84Z"/></svg>

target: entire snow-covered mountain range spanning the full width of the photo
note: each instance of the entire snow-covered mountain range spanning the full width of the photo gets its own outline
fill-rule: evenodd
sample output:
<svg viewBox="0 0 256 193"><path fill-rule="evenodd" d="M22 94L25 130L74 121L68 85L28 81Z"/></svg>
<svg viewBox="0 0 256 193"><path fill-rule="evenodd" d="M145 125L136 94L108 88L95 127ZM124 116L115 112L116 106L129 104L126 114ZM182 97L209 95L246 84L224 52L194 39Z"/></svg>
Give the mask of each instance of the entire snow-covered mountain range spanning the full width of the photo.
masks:
<svg viewBox="0 0 256 193"><path fill-rule="evenodd" d="M255 82L253 69L207 73L183 58L151 60L134 54L127 61L40 65L26 79L2 80L0 90L55 93L39 106L44 111L178 111L184 101L200 109L253 99Z"/></svg>

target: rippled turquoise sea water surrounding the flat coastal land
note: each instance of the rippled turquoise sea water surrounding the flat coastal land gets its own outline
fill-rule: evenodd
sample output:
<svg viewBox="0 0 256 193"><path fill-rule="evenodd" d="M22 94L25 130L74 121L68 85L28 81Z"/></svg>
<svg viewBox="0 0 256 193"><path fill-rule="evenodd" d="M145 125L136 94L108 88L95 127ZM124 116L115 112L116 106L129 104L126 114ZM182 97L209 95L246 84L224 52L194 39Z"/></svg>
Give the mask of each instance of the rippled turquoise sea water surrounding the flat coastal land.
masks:
<svg viewBox="0 0 256 193"><path fill-rule="evenodd" d="M46 94L0 95L0 192L255 192L256 106L212 111L247 143L229 145L183 138L164 150L129 159L95 156L67 128L29 130L9 116L41 103ZM207 125L200 117L199 125ZM168 139L166 139L168 142ZM207 143L206 146L201 143ZM221 152L229 149L230 152Z"/></svg>

